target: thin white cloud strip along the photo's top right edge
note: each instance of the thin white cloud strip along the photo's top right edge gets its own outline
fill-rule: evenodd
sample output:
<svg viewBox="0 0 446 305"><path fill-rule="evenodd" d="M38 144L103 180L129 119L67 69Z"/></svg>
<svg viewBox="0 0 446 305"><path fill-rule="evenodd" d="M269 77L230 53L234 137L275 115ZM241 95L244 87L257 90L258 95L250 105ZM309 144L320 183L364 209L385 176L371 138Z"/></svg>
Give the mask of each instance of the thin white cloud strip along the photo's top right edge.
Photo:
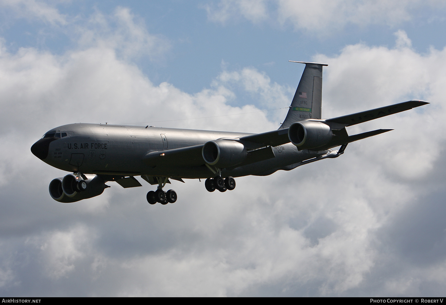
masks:
<svg viewBox="0 0 446 305"><path fill-rule="evenodd" d="M208 18L225 23L243 16L254 23L277 21L295 29L331 33L348 24L395 26L411 20L419 8L445 8L444 3L437 0L264 0L253 1L257 2L254 9L247 2L251 4L251 1L221 0L217 5L206 7Z"/></svg>

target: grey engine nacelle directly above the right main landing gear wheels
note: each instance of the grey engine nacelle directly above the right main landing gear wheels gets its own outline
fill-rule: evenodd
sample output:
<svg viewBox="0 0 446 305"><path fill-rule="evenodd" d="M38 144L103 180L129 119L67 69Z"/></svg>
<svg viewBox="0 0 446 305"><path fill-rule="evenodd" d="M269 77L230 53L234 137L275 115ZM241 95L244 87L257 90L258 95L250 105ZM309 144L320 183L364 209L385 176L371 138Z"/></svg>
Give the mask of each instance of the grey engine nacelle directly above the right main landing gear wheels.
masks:
<svg viewBox="0 0 446 305"><path fill-rule="evenodd" d="M204 161L218 168L240 164L246 159L246 155L246 147L232 140L209 141L202 148Z"/></svg>

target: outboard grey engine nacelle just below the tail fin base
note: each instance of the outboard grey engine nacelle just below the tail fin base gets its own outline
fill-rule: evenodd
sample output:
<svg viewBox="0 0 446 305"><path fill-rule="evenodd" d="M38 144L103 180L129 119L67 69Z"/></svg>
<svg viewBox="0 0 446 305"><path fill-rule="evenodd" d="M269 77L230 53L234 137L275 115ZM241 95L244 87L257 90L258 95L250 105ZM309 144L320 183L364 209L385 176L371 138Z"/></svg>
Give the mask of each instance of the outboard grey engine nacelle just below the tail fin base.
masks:
<svg viewBox="0 0 446 305"><path fill-rule="evenodd" d="M301 149L318 148L331 140L330 126L322 122L301 121L293 123L288 129L291 143Z"/></svg>

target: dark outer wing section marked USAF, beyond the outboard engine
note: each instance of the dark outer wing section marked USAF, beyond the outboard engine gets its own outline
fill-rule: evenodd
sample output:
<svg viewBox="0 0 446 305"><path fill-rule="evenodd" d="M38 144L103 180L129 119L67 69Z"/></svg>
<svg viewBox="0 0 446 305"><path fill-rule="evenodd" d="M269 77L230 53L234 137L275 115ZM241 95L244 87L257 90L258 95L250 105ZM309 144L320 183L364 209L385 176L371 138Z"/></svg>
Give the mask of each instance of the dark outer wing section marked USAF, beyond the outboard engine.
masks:
<svg viewBox="0 0 446 305"><path fill-rule="evenodd" d="M328 125L333 125L330 123L336 123L336 124L343 125L342 127L347 127L347 126L367 122L370 120L375 120L375 119L381 118L386 115L391 115L391 114L398 113L401 111L406 111L406 110L409 110L409 109L412 109L415 107L419 107L419 106L423 106L426 104L429 104L429 103L425 102L425 101L420 101L420 100L412 100L412 101L408 101L408 102L393 104L393 105L386 106L386 107L380 107L380 108L376 108L376 109L372 109L372 110L362 111L362 112L354 113L351 115L343 115L343 116L339 116L339 117L333 118L333 119L326 119L325 122ZM337 129L337 128L334 128L334 129Z"/></svg>

